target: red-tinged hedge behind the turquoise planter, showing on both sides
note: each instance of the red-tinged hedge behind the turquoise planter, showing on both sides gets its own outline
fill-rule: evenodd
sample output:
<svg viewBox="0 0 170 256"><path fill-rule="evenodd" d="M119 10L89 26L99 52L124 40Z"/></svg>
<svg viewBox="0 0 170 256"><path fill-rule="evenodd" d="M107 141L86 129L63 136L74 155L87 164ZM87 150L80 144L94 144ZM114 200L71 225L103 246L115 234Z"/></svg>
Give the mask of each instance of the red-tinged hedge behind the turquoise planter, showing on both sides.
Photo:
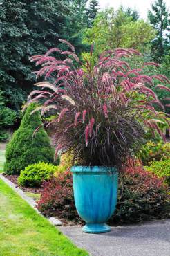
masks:
<svg viewBox="0 0 170 256"><path fill-rule="evenodd" d="M109 223L135 223L168 216L169 196L162 179L138 166L120 174L119 182L117 208ZM75 209L70 171L44 183L37 208L46 216L82 222Z"/></svg>

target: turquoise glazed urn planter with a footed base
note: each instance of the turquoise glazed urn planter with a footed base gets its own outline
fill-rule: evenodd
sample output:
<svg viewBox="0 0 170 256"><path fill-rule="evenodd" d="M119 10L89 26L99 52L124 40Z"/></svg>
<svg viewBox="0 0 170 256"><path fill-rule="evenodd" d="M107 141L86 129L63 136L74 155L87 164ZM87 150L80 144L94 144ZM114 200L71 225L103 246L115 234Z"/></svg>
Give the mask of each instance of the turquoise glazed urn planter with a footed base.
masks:
<svg viewBox="0 0 170 256"><path fill-rule="evenodd" d="M115 167L73 166L73 190L79 217L86 225L84 232L102 233L111 228L106 221L117 203L118 174Z"/></svg>

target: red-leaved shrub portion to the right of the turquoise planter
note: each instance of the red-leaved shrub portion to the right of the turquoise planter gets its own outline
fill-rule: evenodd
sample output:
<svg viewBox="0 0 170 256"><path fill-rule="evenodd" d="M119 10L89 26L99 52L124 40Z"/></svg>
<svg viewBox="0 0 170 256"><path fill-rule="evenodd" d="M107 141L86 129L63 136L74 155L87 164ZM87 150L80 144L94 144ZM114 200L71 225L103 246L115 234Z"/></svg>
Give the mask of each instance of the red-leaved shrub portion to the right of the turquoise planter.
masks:
<svg viewBox="0 0 170 256"><path fill-rule="evenodd" d="M141 165L127 167L120 174L115 214L110 223L135 223L169 216L168 188L163 179Z"/></svg>

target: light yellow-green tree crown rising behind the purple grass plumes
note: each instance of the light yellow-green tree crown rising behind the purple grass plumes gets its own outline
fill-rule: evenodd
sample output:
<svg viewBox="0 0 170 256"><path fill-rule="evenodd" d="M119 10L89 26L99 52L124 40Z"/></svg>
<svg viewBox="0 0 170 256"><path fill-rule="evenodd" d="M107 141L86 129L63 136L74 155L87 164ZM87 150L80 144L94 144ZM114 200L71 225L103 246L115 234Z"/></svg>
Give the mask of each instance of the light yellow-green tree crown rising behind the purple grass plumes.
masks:
<svg viewBox="0 0 170 256"><path fill-rule="evenodd" d="M142 53L149 51L155 30L147 22L134 20L122 7L101 11L93 21L93 27L84 33L84 42L95 41L95 53L114 48L135 48Z"/></svg>

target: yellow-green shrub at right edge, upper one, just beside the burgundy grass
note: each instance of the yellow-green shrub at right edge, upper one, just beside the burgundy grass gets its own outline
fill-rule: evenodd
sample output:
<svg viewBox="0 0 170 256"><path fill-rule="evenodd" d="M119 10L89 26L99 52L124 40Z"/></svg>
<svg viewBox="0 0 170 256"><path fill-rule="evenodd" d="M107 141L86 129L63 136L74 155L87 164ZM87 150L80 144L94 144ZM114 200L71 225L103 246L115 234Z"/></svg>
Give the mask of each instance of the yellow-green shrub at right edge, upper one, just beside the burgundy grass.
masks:
<svg viewBox="0 0 170 256"><path fill-rule="evenodd" d="M148 141L142 146L138 158L142 160L143 165L150 165L153 161L168 159L170 158L170 143Z"/></svg>

